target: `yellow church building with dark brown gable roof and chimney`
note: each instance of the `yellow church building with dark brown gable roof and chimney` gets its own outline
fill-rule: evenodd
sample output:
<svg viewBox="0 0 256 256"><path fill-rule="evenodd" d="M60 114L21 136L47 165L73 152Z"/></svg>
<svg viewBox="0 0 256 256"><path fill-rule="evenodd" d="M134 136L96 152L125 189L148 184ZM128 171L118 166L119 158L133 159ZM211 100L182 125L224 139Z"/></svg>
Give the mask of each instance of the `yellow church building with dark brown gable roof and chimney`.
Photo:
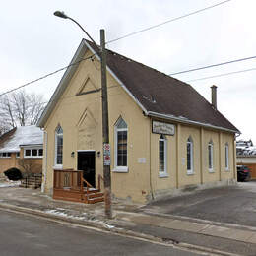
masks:
<svg viewBox="0 0 256 256"><path fill-rule="evenodd" d="M103 174L98 56L83 39L37 123L45 133L47 193L55 170L82 169L94 186ZM146 202L188 186L236 182L239 131L217 110L215 86L211 104L190 85L107 50L107 87L116 198Z"/></svg>

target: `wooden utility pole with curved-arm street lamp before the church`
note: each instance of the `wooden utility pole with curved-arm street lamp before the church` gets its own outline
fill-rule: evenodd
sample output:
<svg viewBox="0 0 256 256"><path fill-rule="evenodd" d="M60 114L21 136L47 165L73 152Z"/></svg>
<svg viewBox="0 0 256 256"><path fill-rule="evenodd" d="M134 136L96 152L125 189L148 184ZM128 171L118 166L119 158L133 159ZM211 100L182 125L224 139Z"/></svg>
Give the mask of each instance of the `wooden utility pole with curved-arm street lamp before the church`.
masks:
<svg viewBox="0 0 256 256"><path fill-rule="evenodd" d="M108 101L107 101L107 86L106 86L106 53L105 53L105 32L100 30L100 48L96 44L95 40L90 36L88 32L73 18L67 16L64 12L56 11L54 15L63 19L69 19L74 22L79 28L87 34L87 36L95 44L99 50L99 57L101 62L101 97L102 97L102 140L103 149L109 149L109 128L108 128ZM104 200L105 200L105 216L112 218L111 207L111 175L110 175L110 163L103 160L103 176L104 176Z"/></svg>

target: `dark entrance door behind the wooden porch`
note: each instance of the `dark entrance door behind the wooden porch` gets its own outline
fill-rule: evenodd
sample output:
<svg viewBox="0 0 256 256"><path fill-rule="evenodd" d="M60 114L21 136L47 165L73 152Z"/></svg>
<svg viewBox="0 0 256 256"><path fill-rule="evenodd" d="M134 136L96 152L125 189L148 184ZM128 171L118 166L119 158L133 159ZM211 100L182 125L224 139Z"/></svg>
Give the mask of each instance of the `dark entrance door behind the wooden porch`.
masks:
<svg viewBox="0 0 256 256"><path fill-rule="evenodd" d="M83 177L96 187L96 152L78 152L78 170L83 170Z"/></svg>

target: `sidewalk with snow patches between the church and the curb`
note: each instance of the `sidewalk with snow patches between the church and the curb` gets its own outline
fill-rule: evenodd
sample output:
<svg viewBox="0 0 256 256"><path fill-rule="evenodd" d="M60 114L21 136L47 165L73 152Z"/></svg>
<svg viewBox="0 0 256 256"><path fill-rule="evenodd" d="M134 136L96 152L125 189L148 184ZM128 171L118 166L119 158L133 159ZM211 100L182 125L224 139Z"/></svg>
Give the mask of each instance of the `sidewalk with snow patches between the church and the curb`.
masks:
<svg viewBox="0 0 256 256"><path fill-rule="evenodd" d="M4 210L91 225L120 234L185 247L195 246L201 250L207 247L220 255L256 255L256 228L160 216L143 212L142 207L143 205L114 202L114 219L105 220L103 203L70 203L53 200L38 189L0 188L0 208Z"/></svg>

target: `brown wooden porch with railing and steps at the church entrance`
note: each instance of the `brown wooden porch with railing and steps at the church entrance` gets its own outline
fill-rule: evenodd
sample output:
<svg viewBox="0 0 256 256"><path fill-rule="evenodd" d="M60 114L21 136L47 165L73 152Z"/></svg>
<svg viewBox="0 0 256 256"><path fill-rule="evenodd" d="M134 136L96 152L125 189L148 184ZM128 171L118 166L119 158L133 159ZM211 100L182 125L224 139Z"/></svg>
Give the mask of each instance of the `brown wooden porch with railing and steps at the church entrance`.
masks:
<svg viewBox="0 0 256 256"><path fill-rule="evenodd" d="M83 178L83 170L54 169L53 199L95 204L104 201L101 192L101 175L97 176L97 188Z"/></svg>

